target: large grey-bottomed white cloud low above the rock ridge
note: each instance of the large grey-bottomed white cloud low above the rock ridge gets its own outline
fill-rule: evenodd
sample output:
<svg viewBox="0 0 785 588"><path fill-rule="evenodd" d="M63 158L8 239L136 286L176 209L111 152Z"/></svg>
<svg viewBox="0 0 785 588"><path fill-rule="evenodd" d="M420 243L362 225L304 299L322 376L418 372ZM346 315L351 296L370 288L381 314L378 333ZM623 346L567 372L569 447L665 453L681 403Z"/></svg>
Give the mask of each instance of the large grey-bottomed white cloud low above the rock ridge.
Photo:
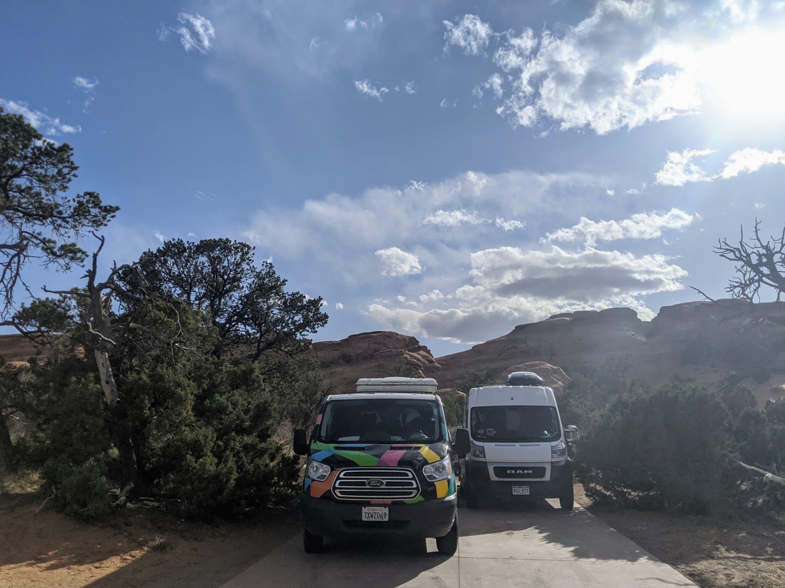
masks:
<svg viewBox="0 0 785 588"><path fill-rule="evenodd" d="M390 328L456 343L478 343L514 325L569 310L626 306L653 313L637 296L683 289L687 273L666 256L586 249L524 251L501 247L471 256L473 285L456 292L456 306L416 310L371 304L370 318Z"/></svg>

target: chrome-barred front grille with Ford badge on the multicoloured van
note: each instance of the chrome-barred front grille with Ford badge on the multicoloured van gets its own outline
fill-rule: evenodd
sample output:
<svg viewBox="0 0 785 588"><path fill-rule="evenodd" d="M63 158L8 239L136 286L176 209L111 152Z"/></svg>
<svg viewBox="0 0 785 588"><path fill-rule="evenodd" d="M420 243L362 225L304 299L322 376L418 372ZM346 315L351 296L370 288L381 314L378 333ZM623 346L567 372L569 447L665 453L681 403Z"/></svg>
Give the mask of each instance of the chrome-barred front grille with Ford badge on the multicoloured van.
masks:
<svg viewBox="0 0 785 588"><path fill-rule="evenodd" d="M333 482L339 500L410 500L419 493L417 478L407 467L345 467Z"/></svg>

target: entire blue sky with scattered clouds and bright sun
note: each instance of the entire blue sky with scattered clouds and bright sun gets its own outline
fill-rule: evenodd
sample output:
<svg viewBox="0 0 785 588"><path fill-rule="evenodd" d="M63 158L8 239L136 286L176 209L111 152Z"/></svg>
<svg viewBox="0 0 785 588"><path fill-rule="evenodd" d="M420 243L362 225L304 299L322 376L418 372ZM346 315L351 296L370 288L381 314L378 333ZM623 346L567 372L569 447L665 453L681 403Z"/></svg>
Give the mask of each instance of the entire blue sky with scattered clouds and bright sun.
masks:
<svg viewBox="0 0 785 588"><path fill-rule="evenodd" d="M487 4L17 2L0 106L122 207L107 263L248 241L316 339L720 296L717 238L783 226L785 3Z"/></svg>

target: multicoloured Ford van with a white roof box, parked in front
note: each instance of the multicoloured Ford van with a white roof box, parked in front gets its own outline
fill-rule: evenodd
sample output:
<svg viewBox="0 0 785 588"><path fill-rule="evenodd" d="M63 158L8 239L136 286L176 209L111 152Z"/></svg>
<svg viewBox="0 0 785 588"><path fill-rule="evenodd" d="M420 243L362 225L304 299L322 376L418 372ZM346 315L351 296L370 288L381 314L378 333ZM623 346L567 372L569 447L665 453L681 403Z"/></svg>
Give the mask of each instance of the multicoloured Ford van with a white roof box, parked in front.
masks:
<svg viewBox="0 0 785 588"><path fill-rule="evenodd" d="M436 537L440 553L454 554L455 449L434 379L364 378L325 398L310 439L294 432L294 452L308 456L305 551L322 550L324 536L404 534Z"/></svg>

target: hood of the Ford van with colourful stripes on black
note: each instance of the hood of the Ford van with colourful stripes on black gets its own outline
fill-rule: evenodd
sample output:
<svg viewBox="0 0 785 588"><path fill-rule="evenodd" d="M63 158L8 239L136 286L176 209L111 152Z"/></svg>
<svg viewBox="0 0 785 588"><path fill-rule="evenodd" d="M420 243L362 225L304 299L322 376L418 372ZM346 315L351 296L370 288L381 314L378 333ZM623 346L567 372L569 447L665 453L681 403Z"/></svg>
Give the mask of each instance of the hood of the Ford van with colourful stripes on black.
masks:
<svg viewBox="0 0 785 588"><path fill-rule="evenodd" d="M357 466L401 466L419 471L423 466L445 457L446 443L311 443L311 458L326 463L333 470Z"/></svg>

